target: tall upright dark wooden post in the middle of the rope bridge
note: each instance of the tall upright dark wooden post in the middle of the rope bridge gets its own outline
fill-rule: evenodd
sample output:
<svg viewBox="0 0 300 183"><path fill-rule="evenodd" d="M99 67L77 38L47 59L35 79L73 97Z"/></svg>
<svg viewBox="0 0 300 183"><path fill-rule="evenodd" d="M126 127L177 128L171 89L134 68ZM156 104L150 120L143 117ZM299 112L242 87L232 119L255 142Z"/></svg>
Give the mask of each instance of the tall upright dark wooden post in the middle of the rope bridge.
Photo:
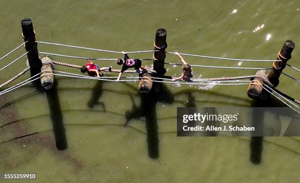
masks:
<svg viewBox="0 0 300 183"><path fill-rule="evenodd" d="M154 50L153 54L153 69L160 75L164 75L166 73L166 69L164 68L166 53L165 49L167 48L167 31L163 28L157 29L155 34L155 42L154 42Z"/></svg>

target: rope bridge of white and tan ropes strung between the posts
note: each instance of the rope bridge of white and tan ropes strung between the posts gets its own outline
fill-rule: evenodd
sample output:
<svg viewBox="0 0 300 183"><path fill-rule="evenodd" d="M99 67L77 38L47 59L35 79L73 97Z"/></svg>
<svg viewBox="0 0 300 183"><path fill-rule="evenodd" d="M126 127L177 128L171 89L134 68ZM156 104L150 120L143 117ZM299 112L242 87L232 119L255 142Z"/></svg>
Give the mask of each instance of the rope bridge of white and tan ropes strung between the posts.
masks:
<svg viewBox="0 0 300 183"><path fill-rule="evenodd" d="M7 54L5 54L4 56L2 56L0 58L0 61L2 59L4 59L5 57L7 57L8 55L12 54L14 51L16 51L17 49L19 49L20 47L24 46L25 43L27 43L28 41L25 41L23 44L21 44L20 46L17 46L15 49L13 49L12 51L8 52ZM72 47L72 48L79 48L79 49L86 49L86 50L94 50L94 51L102 51L102 52L109 52L109 53L122 53L120 51L112 51L112 50L105 50L105 49L97 49L97 48L89 48L89 47L82 47L82 46L71 46L71 45L63 45L63 44L57 44L57 43L48 43L48 42L41 42L41 41L36 41L36 43L40 43L40 44L46 44L46 45L53 45L53 46L65 46L65 47ZM159 50L146 50L146 51L128 51L126 53L148 53L148 52L155 52L155 51L159 51ZM20 60L21 58L23 58L26 54L28 53L25 52L23 55L21 55L20 57L18 57L17 59L15 59L14 61L12 61L11 63L7 64L6 66L4 66L3 68L0 69L6 69L9 66L11 66L13 63L17 62L18 60ZM54 55L54 56L60 56L60 57L67 57L67 58L75 58L75 59L87 59L88 57L78 57L78 56L70 56L70 55L62 55L62 54L57 54L57 53L48 53L48 52L39 52L41 54L47 54L47 55ZM175 54L174 52L165 52L168 54ZM219 60L226 60L226 61L245 61L245 62L281 62L281 60L258 60L258 59L233 59L233 58L223 58L223 57L213 57L213 56L205 56L205 55L195 55L195 54L187 54L187 53L180 53L180 55L185 55L185 56L192 56L192 57L201 57L201 58L210 58L210 59L219 59ZM91 58L91 60L99 60L99 61L115 61L116 59L114 58ZM153 61L154 59L140 59L142 61ZM65 66L65 67L71 67L71 68L75 68L75 69L80 69L82 66L78 66L78 65L74 65L74 64L68 64L68 63L62 63L62 62L57 62L57 61L51 61L52 64L55 65L61 65L61 66ZM176 63L164 63L166 65L174 65L174 66L178 66L178 65L182 65L182 64L176 64ZM298 72L300 71L300 69L291 66L290 64L286 64L287 66L289 66L292 69L297 70ZM214 68L214 69L272 69L272 68L245 68L245 67L224 67L224 66L203 66L203 65L190 65L192 67L200 67L200 68ZM14 76L13 78L9 79L8 81L6 81L5 83L0 85L0 88L5 87L6 85L8 85L9 83L13 82L14 80L16 80L17 78L19 78L20 76L22 76L23 74L26 73L26 71L28 71L30 68L25 68L22 72L20 72L19 74L17 74L16 76ZM58 75L58 76L65 76L65 77L73 77L73 78L82 78L82 79L93 79L93 80L104 80L104 81L115 81L112 80L113 78L117 78L117 77L101 77L101 78L95 78L95 77L91 77L91 76L85 76L85 75L80 75L80 74L75 74L75 73L68 73L68 72L63 72L63 71L56 71L56 70L51 70L53 72L57 72L57 73L53 73L53 75ZM120 72L121 70L119 69L112 69L112 72ZM60 74L58 74L60 73ZM126 70L125 73L134 73L133 70ZM295 80L296 82L300 82L298 79L281 72L282 74L284 74L285 76ZM33 82L39 78L41 78L40 75L36 74L35 76L32 76L28 79L26 79L25 81L10 87L2 92L0 92L0 95L7 93L7 92L11 92L17 88L20 88L30 82ZM159 77L153 77L154 80L152 80L153 82L160 82L160 83L170 83L170 84L185 84L185 85L223 85L223 86L227 86L227 85L249 85L250 81L240 81L238 79L251 79L251 78L255 78L255 77L261 77L259 75L247 75L247 76L237 76L237 77L222 77L222 78L204 78L204 79L194 79L191 82L183 82L183 81L176 81L176 82L172 82L172 81L162 81L162 79L164 80L171 80L168 78L159 78ZM127 80L120 80L120 82L136 82L136 81L140 81L141 77L123 77L126 78ZM156 80L158 79L158 80ZM29 81L30 80L30 81ZM277 99L279 99L281 102L283 102L284 104L286 104L287 106L289 106L290 108L292 108L293 110L297 111L294 107L300 109L297 105L295 105L293 102L289 101L287 98L289 97L284 97L283 95L285 95L284 93L279 93L279 91L275 91L274 89L272 89L271 87L273 87L273 85L265 78L263 78L264 82L267 83L267 85L265 83L262 83L264 86L261 86L263 89L265 89L266 91L270 92L269 90L271 90L272 92L275 92L277 95L279 95L279 97L277 97L274 93L270 92L272 95L274 95ZM208 83L201 83L201 82L208 82ZM220 82L232 82L232 83L220 83ZM269 86L268 86L269 85ZM269 89L269 90L267 90ZM286 95L287 96L287 95ZM286 101L288 101L291 105L293 105L294 107L292 107L291 105L287 104L286 102L284 102L281 98L285 99ZM291 98L291 97L290 97ZM289 99L290 99L289 98ZM294 102L299 104L298 100L294 99ZM299 111L297 111L298 113L300 113Z"/></svg>

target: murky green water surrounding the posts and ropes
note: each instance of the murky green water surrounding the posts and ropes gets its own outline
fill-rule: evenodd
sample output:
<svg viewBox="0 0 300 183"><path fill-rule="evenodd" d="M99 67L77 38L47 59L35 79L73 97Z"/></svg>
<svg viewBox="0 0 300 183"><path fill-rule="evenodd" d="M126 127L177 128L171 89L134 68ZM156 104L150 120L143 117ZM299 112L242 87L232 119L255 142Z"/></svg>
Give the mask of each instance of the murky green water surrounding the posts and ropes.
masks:
<svg viewBox="0 0 300 183"><path fill-rule="evenodd" d="M1 0L0 55L23 42L20 22L28 17L33 21L39 41L117 51L153 49L158 28L167 30L168 51L231 58L275 59L283 43L291 39L296 47L289 63L299 68L299 9L297 0ZM262 28L257 30L258 26ZM38 49L83 57L122 57L41 44ZM19 49L0 61L0 67L24 52L24 48ZM130 56L152 57L151 53ZM85 64L82 60L51 58ZM271 67L271 63L184 58L190 64ZM1 71L0 83L23 70L25 61L23 58ZM167 55L166 62L179 62L179 59ZM114 62L98 64L119 68ZM60 66L55 69L79 73ZM167 75L180 73L180 67L168 69ZM203 78L256 72L200 68L194 71ZM290 68L285 72L299 76ZM21 78L28 76L26 73ZM38 182L297 183L300 180L298 137L264 138L259 165L249 160L250 137L176 137L176 107L251 106L247 86L215 86L203 90L167 85L174 100L153 104L155 108L151 109L156 112L157 126L147 126L144 116L127 121L125 115L137 111L142 103L138 83L56 79L58 92L52 93L52 97L57 101L53 105L60 104L62 115L55 116L63 121L65 129L65 137L57 138L65 142L59 145L67 149L58 151L55 146L53 128L58 131L63 128L52 125L50 114L59 110L50 111L46 93L36 92L31 85L24 86L0 96L0 125L15 122L0 128L0 141L37 134L0 144L0 172L35 172ZM299 99L298 87L290 78L281 76L277 89ZM151 131L156 128L157 134Z"/></svg>

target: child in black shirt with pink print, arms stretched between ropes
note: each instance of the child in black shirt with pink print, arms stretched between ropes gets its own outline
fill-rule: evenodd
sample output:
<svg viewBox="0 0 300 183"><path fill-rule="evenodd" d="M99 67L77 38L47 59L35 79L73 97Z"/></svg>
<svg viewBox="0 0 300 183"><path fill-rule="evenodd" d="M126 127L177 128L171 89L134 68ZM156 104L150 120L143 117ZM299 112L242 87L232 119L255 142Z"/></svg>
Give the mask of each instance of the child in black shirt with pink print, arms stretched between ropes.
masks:
<svg viewBox="0 0 300 183"><path fill-rule="evenodd" d="M124 51L122 51L122 54L124 54L124 60L122 59L117 59L116 63L118 65L122 65L122 70L119 73L118 79L116 81L119 81L123 72L127 70L128 68L134 68L136 69L134 73L138 73L140 69L143 69L143 71L146 71L146 69L142 66L142 61L140 59L130 59Z"/></svg>

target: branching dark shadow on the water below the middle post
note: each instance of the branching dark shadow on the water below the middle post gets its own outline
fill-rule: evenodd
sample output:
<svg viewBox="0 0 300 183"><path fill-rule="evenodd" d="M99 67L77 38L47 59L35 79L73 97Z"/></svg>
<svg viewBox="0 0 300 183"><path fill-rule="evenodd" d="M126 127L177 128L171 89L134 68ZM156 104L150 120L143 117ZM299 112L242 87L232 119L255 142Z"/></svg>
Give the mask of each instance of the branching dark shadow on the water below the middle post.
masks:
<svg viewBox="0 0 300 183"><path fill-rule="evenodd" d="M148 143L148 155L150 158L159 158L159 139L158 139L158 125L156 117L156 103L173 103L174 97L170 90L163 85L161 92L159 93L142 93L140 107L137 107L134 103L133 97L130 95L132 100L132 109L125 112L127 125L132 118L141 116L146 117L146 129L147 129L147 143Z"/></svg>

